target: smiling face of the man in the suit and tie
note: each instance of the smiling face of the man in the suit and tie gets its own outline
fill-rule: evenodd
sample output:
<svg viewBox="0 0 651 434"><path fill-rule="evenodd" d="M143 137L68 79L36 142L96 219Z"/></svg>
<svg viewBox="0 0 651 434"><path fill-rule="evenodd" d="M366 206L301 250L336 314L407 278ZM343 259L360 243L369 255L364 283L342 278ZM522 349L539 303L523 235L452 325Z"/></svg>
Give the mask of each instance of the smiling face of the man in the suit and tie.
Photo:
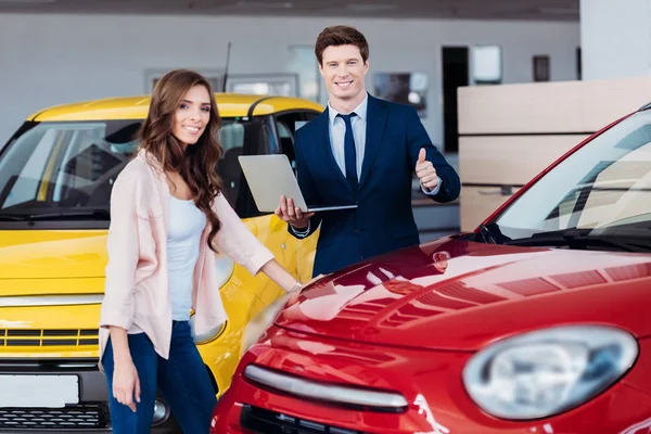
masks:
<svg viewBox="0 0 651 434"><path fill-rule="evenodd" d="M330 46L323 50L319 71L326 80L331 99L350 100L366 92L363 77L369 62L361 60L356 46Z"/></svg>

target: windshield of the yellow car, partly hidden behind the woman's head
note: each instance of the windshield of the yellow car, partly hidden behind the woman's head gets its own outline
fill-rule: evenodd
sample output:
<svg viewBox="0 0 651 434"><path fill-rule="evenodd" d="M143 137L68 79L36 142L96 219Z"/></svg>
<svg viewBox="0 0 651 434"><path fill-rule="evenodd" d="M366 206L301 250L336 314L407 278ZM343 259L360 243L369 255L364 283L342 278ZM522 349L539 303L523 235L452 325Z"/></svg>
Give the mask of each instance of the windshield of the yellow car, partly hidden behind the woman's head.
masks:
<svg viewBox="0 0 651 434"><path fill-rule="evenodd" d="M84 228L106 228L111 190L137 152L141 123L26 123L0 156L0 224L56 221L58 228L66 222L81 228L85 222ZM222 119L219 141L225 156L216 170L227 197L228 187L240 182L237 156L246 152L247 142L267 141L259 124Z"/></svg>

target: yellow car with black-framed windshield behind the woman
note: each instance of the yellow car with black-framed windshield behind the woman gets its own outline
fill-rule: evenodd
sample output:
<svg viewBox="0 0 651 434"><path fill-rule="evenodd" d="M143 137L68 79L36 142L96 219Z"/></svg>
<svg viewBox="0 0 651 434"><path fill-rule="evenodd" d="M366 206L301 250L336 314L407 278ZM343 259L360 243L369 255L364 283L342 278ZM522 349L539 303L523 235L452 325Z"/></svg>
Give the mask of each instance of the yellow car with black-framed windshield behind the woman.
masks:
<svg viewBox="0 0 651 434"><path fill-rule="evenodd" d="M322 111L283 97L216 94L224 193L251 231L301 280L311 276L316 237L297 241L258 212L239 155L284 153L295 129ZM111 431L98 371L98 322L113 182L132 156L149 97L51 107L30 116L0 153L0 432ZM229 320L195 336L217 396L230 385L247 321L281 290L217 257ZM177 430L163 399L153 432ZM13 431L12 431L13 432Z"/></svg>

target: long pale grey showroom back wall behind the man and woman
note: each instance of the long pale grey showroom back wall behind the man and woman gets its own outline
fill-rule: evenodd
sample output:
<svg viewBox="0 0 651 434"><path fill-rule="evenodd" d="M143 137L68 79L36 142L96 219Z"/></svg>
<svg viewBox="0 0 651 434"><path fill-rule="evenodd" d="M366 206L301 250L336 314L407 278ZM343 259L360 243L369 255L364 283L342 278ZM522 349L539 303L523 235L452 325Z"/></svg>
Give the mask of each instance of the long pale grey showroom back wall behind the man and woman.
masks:
<svg viewBox="0 0 651 434"><path fill-rule="evenodd" d="M288 46L314 44L329 25L359 28L373 72L429 75L434 143L443 141L441 47L499 44L507 84L532 80L532 55L551 56L551 79L575 79L578 23L0 14L0 142L26 116L52 104L144 93L151 68L286 72Z"/></svg>

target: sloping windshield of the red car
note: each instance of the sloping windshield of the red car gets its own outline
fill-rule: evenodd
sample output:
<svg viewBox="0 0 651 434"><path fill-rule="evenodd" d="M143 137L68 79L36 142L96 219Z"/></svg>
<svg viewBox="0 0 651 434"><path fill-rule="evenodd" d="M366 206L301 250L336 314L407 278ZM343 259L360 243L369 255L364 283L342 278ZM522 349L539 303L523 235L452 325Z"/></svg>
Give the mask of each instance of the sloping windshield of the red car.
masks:
<svg viewBox="0 0 651 434"><path fill-rule="evenodd" d="M651 242L651 110L586 143L482 229L507 243L550 234Z"/></svg>

